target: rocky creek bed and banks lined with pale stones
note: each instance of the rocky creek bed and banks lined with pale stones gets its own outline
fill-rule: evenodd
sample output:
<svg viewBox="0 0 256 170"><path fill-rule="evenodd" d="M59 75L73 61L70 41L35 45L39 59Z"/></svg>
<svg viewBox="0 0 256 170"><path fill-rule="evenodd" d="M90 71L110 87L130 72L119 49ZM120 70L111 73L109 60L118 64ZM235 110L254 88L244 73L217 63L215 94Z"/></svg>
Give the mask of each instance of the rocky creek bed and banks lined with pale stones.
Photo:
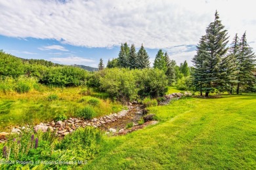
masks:
<svg viewBox="0 0 256 170"><path fill-rule="evenodd" d="M190 96L191 93L172 93L165 95L165 100L161 101L159 105L167 105L171 99L179 99L182 96ZM69 118L64 121L57 122L47 122L40 123L33 127L35 133L37 131L52 131L56 136L63 137L75 131L79 127L93 126L95 128L100 128L106 133L111 133L113 135L125 135L131 133L137 129L142 129L145 126L157 124L157 121L154 121L154 114L146 114L147 110L144 109L143 105L138 105L137 102L128 103L128 110L121 110L118 113L113 113L110 115L105 115L100 118L93 118L92 120L84 120L83 118ZM144 124L139 125L139 120L143 118ZM133 123L133 126L127 128L127 124ZM13 127L11 133L21 133L24 129L32 129L30 126L16 126ZM0 143L5 143L6 136L9 133L0 132Z"/></svg>

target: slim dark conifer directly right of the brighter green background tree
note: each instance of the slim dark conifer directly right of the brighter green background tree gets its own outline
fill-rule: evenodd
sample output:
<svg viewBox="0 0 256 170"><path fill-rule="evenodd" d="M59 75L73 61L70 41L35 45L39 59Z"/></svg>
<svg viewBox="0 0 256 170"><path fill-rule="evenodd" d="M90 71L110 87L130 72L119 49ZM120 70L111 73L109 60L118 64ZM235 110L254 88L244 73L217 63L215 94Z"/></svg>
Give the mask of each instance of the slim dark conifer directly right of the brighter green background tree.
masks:
<svg viewBox="0 0 256 170"><path fill-rule="evenodd" d="M166 63L166 67L167 67L165 75L168 78L168 84L171 86L171 84L173 84L173 82L175 82L175 65L176 65L176 63L173 65L173 61L171 61L167 52L165 52L164 57L165 57L165 63Z"/></svg>

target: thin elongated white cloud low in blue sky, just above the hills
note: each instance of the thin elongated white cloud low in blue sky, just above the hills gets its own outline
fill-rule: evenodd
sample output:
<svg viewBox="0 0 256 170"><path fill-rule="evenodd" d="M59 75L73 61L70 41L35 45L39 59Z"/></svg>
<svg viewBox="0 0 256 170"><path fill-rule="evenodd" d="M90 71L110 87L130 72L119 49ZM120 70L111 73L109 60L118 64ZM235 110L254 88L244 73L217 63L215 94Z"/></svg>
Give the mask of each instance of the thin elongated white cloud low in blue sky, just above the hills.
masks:
<svg viewBox="0 0 256 170"><path fill-rule="evenodd" d="M93 59L81 58L77 56L69 56L66 58L50 58L51 61L61 63L61 64L79 64L79 65L88 65L88 63L94 62Z"/></svg>

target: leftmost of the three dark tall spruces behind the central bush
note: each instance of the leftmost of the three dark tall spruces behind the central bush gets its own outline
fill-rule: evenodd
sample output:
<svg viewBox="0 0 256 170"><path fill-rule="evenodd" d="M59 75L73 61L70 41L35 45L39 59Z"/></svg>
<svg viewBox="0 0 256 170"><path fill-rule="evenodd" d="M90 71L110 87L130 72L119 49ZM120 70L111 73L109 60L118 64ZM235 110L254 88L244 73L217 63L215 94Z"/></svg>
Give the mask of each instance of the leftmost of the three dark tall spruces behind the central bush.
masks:
<svg viewBox="0 0 256 170"><path fill-rule="evenodd" d="M128 50L127 50L128 48ZM119 67L129 67L129 61L128 61L128 56L129 56L129 46L127 45L127 43L125 42L125 44L121 44L121 48L119 51L119 55L118 55L118 66Z"/></svg>

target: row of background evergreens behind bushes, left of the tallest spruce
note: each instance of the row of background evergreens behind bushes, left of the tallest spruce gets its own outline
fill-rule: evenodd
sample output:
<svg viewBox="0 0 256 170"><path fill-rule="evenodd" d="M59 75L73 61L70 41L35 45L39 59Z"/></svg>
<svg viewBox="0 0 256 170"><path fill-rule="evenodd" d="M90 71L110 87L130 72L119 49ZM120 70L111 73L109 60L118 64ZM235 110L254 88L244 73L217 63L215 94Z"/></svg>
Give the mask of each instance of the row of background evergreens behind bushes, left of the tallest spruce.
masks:
<svg viewBox="0 0 256 170"><path fill-rule="evenodd" d="M175 60L170 59L167 52L163 52L161 49L158 50L153 65L154 69L160 69L165 73L169 86L174 85L175 82L178 82L184 77L188 77L192 70L188 67L188 63L186 61L178 66ZM117 58L113 58L112 60L108 59L108 63L106 65L106 68L115 67L126 69L150 68L150 58L143 44L140 46L139 51L136 52L134 44L131 44L131 47L129 47L127 42L122 43ZM102 58L100 58L98 69L104 69Z"/></svg>

